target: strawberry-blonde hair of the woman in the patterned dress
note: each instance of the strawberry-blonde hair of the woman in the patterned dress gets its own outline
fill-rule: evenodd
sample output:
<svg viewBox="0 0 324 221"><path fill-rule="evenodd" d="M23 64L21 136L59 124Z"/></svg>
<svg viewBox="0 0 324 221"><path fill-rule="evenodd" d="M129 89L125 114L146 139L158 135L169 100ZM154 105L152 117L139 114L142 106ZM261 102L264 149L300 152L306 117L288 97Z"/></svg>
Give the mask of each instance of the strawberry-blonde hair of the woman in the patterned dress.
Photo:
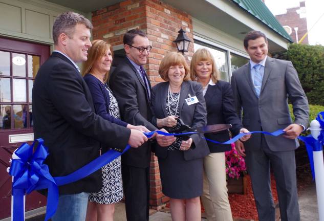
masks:
<svg viewBox="0 0 324 221"><path fill-rule="evenodd" d="M91 42L91 48L88 50L88 60L83 62L82 65L82 76L91 73L93 70L94 63L99 60L104 54L110 50L113 55L113 48L110 43L104 40L93 40ZM104 75L103 81L107 82L109 79L109 72Z"/></svg>

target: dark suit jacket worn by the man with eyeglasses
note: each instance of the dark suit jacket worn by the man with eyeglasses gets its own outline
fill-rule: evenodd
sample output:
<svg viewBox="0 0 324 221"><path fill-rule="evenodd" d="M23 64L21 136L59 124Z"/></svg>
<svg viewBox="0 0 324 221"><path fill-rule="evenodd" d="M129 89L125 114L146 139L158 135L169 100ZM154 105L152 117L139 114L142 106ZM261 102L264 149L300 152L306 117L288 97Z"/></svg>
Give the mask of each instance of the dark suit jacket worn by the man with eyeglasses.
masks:
<svg viewBox="0 0 324 221"><path fill-rule="evenodd" d="M146 78L149 83L147 76ZM143 125L151 131L157 129L150 123L152 109L144 82L127 58L124 58L123 62L116 67L109 83L118 101L123 121L133 125ZM150 142L146 142L139 148L132 148L124 153L121 162L128 166L146 168L149 166L150 154Z"/></svg>

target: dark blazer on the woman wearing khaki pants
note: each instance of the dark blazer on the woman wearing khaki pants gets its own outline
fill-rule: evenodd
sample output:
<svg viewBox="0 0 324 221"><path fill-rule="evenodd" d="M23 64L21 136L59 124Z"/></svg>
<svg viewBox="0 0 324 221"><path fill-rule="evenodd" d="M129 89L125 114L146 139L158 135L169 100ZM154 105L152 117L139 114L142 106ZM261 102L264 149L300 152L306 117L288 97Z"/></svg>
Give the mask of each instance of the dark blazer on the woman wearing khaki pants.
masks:
<svg viewBox="0 0 324 221"><path fill-rule="evenodd" d="M241 120L237 117L234 107L234 96L231 85L219 80L215 85L208 85L205 94L207 107L207 125L210 124L232 124L230 129L233 136L239 134L243 128ZM205 134L211 140L225 142L229 140L228 130ZM210 152L225 152L231 149L230 144L215 144L207 141Z"/></svg>

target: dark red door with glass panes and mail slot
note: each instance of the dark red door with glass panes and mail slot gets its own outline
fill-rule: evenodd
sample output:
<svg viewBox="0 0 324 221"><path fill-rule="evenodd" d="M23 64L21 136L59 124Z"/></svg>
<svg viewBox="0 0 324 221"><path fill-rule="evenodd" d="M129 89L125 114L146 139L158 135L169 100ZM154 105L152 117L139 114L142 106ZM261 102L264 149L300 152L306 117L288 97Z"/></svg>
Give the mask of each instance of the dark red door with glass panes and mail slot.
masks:
<svg viewBox="0 0 324 221"><path fill-rule="evenodd" d="M0 219L11 213L9 159L33 140L33 82L49 55L49 46L0 38ZM26 211L45 205L46 197L37 192L26 196Z"/></svg>

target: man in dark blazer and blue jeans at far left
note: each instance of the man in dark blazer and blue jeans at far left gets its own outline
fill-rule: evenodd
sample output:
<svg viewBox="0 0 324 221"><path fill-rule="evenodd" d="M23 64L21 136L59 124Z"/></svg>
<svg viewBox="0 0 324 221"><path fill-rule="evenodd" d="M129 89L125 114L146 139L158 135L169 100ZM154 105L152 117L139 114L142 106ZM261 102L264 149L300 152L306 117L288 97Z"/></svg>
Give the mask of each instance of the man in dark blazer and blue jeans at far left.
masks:
<svg viewBox="0 0 324 221"><path fill-rule="evenodd" d="M72 173L100 155L100 149L122 151L147 138L139 130L106 121L94 112L91 93L75 62L87 60L90 21L74 12L59 15L53 25L55 51L40 67L33 87L34 136L49 148L46 164L53 176ZM84 220L89 192L102 186L100 170L59 187L52 220Z"/></svg>

